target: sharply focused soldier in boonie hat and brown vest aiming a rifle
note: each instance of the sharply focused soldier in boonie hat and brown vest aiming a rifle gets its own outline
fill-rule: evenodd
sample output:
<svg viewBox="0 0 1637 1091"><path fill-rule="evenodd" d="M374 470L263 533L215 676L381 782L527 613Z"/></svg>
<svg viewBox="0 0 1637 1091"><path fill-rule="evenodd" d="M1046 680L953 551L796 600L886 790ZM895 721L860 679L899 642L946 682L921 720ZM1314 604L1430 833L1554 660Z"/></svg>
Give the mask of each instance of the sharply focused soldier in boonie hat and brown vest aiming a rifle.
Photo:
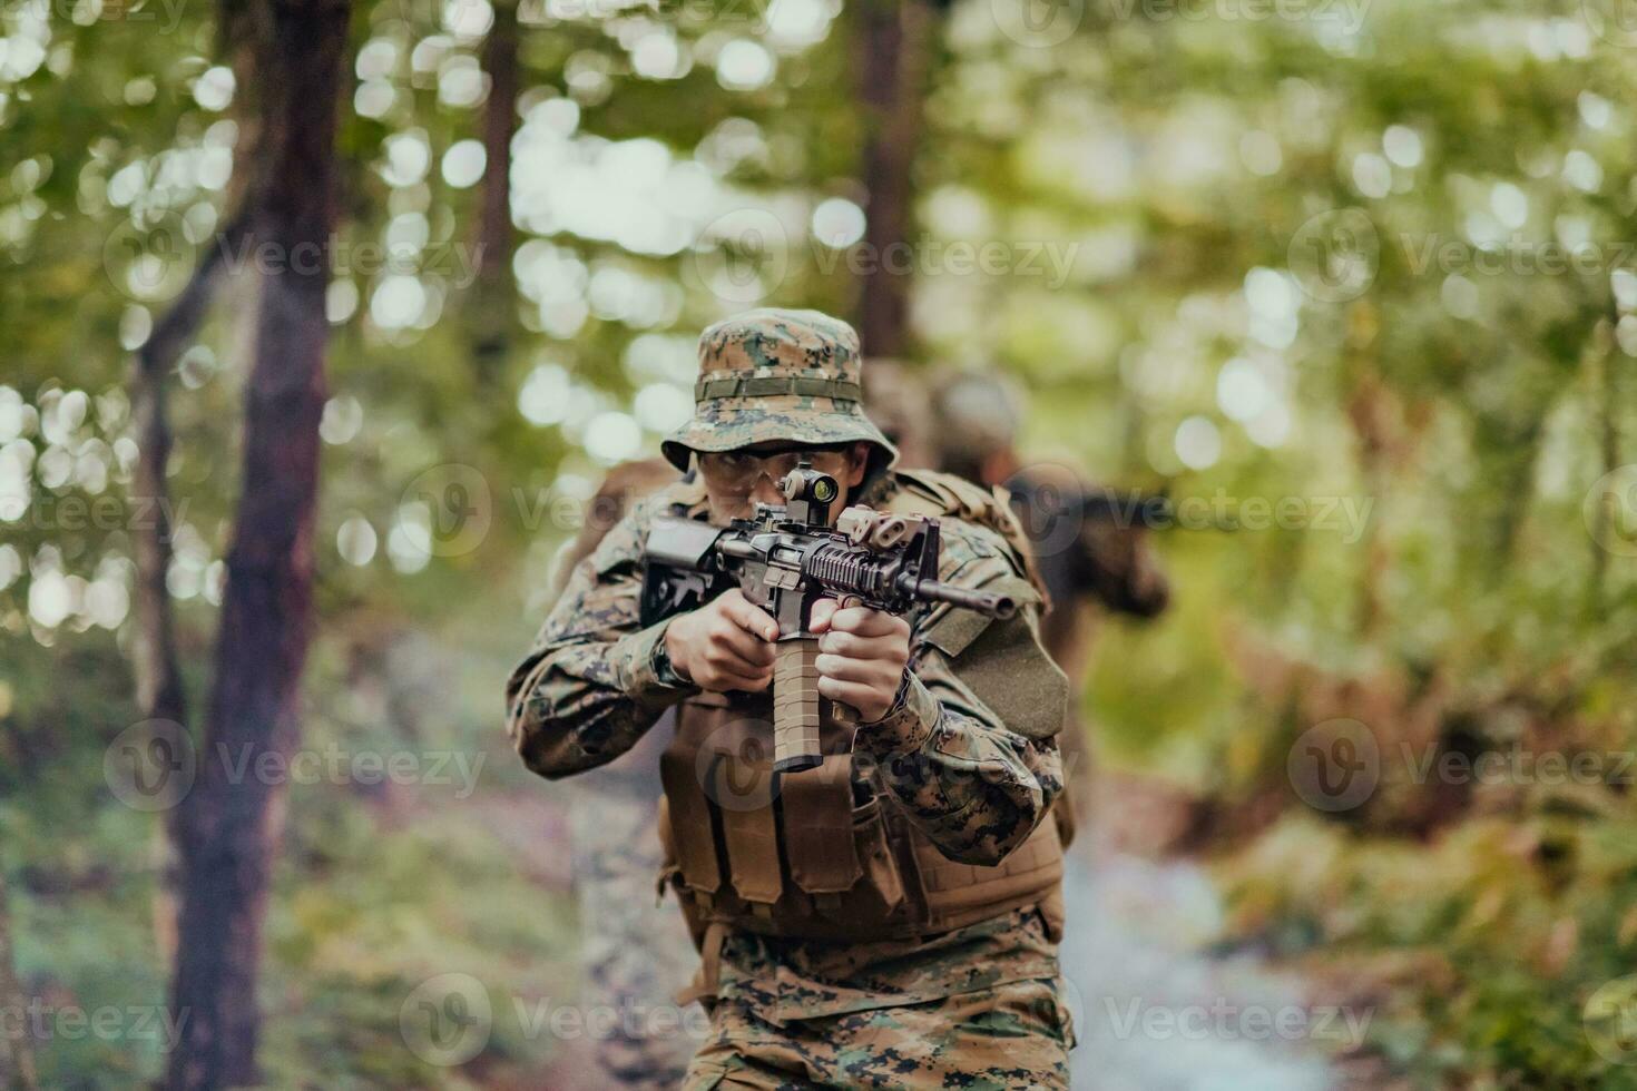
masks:
<svg viewBox="0 0 1637 1091"><path fill-rule="evenodd" d="M845 322L753 311L707 329L699 358L696 415L663 443L696 479L640 502L578 566L506 690L512 741L548 779L619 757L676 710L666 882L710 1012L684 1086L1067 1086L1062 852L1043 821L1067 689L1015 519L956 478L891 469ZM841 486L832 512L940 517L940 579L1021 608L899 618L822 600L825 759L773 779L776 623L735 589L643 626L640 563L655 515L720 525L782 502L774 483L800 456Z"/></svg>

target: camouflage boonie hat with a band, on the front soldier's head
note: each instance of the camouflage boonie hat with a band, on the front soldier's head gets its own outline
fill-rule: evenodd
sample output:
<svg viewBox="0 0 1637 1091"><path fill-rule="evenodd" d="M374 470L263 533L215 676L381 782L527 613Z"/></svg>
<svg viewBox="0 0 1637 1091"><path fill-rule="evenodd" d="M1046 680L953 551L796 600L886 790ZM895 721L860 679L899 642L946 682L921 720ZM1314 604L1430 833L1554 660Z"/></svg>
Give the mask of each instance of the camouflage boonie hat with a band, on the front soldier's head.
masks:
<svg viewBox="0 0 1637 1091"><path fill-rule="evenodd" d="M873 445L871 473L897 448L864 415L858 334L818 311L746 311L699 335L694 419L660 443L678 469L689 451L768 440Z"/></svg>

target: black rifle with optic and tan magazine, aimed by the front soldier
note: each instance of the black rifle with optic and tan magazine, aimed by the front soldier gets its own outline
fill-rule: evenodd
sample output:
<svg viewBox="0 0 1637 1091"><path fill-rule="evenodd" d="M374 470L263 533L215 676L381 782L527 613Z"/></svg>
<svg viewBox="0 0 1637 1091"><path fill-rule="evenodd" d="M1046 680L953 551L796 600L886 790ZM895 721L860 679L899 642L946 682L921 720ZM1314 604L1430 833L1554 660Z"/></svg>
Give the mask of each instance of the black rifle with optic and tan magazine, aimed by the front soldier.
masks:
<svg viewBox="0 0 1637 1091"><path fill-rule="evenodd" d="M779 623L773 671L773 767L799 772L823 761L818 749L818 640L809 630L818 599L909 613L918 602L948 602L995 618L1017 600L938 582L938 520L889 515L863 505L841 510L835 478L802 460L779 483L786 504L758 504L727 528L691 519L656 519L643 563L642 620L652 625L691 610L728 587ZM838 705L840 708L840 705Z"/></svg>

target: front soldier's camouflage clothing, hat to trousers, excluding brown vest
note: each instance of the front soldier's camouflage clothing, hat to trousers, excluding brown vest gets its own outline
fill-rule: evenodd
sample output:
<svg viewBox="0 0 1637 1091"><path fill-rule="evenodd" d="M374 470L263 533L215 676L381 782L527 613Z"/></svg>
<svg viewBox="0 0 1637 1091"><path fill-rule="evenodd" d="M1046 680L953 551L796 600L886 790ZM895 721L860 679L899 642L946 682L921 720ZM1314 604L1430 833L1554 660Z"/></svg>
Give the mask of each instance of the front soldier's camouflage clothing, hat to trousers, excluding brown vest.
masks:
<svg viewBox="0 0 1637 1091"><path fill-rule="evenodd" d="M755 381L792 353L805 361L802 386L727 386ZM786 438L805 443L864 440L871 473L850 502L886 505L909 487L886 468L892 448L858 409L856 335L814 312L753 312L701 339L707 368L701 411L673 435L666 456L732 450ZM840 378L837 378L840 376ZM727 389L727 394L722 391ZM614 761L655 720L699 690L665 659L668 620L642 628L640 559L658 512L704 517L697 483L640 502L581 563L534 651L507 684L509 730L524 762L557 779ZM940 579L964 587L1017 581L1025 571L995 530L943 520ZM1013 730L927 643L946 607L910 617L912 658L887 715L861 725L853 749L855 792L899 808L949 860L995 865L1030 837L1062 788L1053 733ZM1015 685L1066 692L1062 674L1033 640L1033 608L1020 613ZM737 698L735 698L737 700ZM1049 702L1048 702L1049 705ZM1061 898L1018 906L940 934L879 942L764 936L710 926L696 932L712 973L699 994L712 1012L710 1037L686 1086L1066 1086L1072 1039L1061 1001L1056 942ZM710 980L714 978L714 980Z"/></svg>

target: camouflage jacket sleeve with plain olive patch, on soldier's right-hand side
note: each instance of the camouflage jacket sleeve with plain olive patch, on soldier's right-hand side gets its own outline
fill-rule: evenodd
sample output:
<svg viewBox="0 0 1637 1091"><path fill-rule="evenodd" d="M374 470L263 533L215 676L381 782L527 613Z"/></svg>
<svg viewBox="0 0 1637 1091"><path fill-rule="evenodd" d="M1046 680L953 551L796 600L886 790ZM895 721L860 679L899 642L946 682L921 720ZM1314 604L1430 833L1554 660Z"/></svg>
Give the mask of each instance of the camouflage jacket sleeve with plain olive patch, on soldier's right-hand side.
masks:
<svg viewBox="0 0 1637 1091"><path fill-rule="evenodd" d="M1038 595L999 535L945 523L940 576L1015 594L1026 605L989 622L940 605L917 620L910 671L892 710L863 725L856 748L910 821L953 860L997 864L1062 790L1054 738L1067 680L1038 640Z"/></svg>

